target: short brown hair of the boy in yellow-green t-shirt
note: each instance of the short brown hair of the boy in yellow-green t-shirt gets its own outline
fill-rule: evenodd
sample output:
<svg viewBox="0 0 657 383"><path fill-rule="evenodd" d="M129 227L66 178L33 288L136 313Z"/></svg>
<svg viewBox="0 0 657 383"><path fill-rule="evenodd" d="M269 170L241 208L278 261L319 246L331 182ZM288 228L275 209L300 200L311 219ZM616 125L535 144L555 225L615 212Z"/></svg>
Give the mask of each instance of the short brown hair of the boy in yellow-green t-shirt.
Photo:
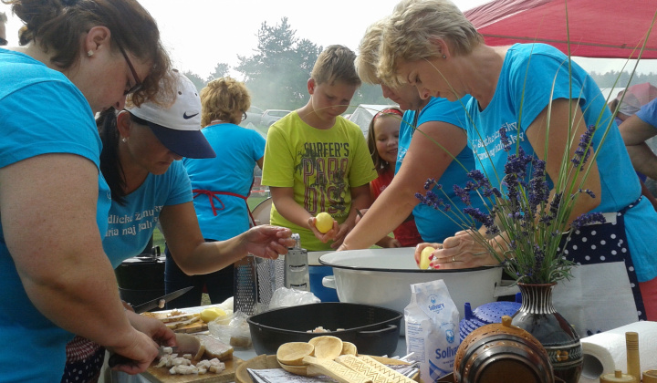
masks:
<svg viewBox="0 0 657 383"><path fill-rule="evenodd" d="M334 84L336 81L360 87L360 78L356 73L354 60L356 54L344 46L330 46L324 49L315 61L310 73L317 84Z"/></svg>

